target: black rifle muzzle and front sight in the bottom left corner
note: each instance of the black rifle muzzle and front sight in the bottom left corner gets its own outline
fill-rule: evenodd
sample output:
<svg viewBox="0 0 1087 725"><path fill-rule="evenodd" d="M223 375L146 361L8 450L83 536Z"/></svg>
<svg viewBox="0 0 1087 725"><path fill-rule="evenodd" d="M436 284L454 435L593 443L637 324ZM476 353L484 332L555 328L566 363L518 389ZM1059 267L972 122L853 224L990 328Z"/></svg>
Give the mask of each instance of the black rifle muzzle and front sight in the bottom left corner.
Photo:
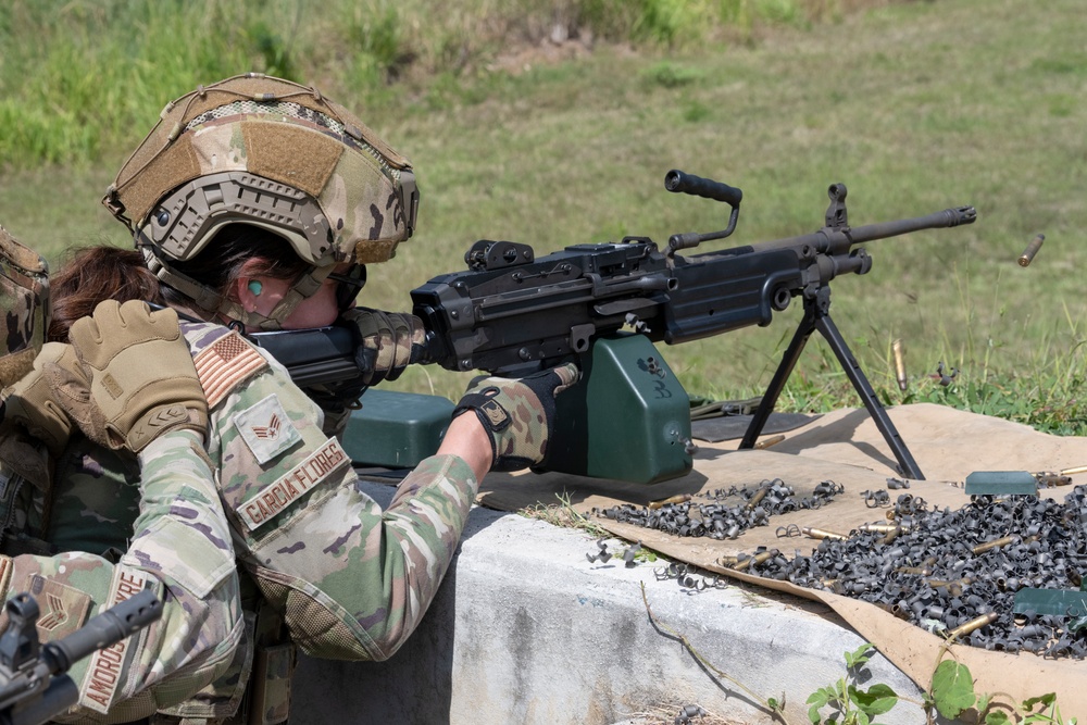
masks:
<svg viewBox="0 0 1087 725"><path fill-rule="evenodd" d="M95 650L111 647L162 616L162 602L141 591L91 618L67 637L38 642L38 603L27 593L8 600L0 636L0 725L38 725L79 700L65 673Z"/></svg>

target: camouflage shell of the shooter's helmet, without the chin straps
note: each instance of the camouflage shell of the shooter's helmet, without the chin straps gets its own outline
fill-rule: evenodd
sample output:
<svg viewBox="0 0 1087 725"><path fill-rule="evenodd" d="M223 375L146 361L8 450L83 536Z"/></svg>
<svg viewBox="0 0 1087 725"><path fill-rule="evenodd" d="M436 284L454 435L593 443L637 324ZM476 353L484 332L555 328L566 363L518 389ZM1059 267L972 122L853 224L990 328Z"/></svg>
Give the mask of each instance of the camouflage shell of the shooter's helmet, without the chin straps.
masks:
<svg viewBox="0 0 1087 725"><path fill-rule="evenodd" d="M323 214L317 222L327 225L332 246L324 239L291 241L317 266L334 259L384 262L414 228L418 196L408 159L315 88L253 73L201 86L168 103L103 203L127 224L143 226L171 191L227 172L316 202L316 216ZM248 212L243 203L232 211L242 217ZM280 222L262 210L252 210L250 221ZM288 225L280 234L291 232ZM207 238L193 242L204 245ZM189 259L195 251L167 254Z"/></svg>

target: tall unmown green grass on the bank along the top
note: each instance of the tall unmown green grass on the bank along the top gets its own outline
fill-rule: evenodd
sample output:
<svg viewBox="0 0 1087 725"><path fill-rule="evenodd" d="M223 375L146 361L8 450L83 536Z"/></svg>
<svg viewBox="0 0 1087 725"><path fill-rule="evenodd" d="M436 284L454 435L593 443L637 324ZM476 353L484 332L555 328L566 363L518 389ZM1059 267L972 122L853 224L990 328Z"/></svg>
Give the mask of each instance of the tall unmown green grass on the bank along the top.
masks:
<svg viewBox="0 0 1087 725"><path fill-rule="evenodd" d="M787 22L808 12L805 2L821 4L759 0L754 13ZM401 91L422 86L426 96L443 74L478 73L555 32L682 48L734 15L712 0L8 0L0 3L0 167L97 161L167 100L248 71L389 103L380 92L389 84L412 79L415 87ZM655 73L670 88L698 77L679 65Z"/></svg>

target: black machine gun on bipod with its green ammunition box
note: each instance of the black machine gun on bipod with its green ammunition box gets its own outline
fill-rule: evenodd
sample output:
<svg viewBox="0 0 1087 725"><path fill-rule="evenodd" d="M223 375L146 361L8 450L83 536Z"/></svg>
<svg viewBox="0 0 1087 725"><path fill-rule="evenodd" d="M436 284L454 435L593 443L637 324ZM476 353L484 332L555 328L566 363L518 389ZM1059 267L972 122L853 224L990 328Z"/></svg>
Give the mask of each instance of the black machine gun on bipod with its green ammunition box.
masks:
<svg viewBox="0 0 1087 725"><path fill-rule="evenodd" d="M421 362L452 371L523 375L569 360L583 367L580 383L559 398L559 432L548 470L655 483L691 467L689 400L653 342L697 340L750 325L769 325L775 312L801 298L803 316L762 397L740 448L752 448L809 338L826 338L887 441L901 473L923 474L876 398L830 318L832 279L865 274L872 258L863 242L921 229L971 224L972 207L927 216L851 227L846 187L834 184L824 226L812 234L723 251L682 255L736 228L740 189L671 171L665 188L724 202L727 227L673 235L661 250L647 237L585 243L537 258L528 245L477 241L468 268L435 277L412 290L414 313L427 329ZM282 350L253 336L308 383L358 377L358 355L336 328L314 332L318 345ZM270 336L276 333L266 334ZM326 353L316 360L324 346ZM302 364L305 362L305 365ZM365 402L365 399L364 399Z"/></svg>

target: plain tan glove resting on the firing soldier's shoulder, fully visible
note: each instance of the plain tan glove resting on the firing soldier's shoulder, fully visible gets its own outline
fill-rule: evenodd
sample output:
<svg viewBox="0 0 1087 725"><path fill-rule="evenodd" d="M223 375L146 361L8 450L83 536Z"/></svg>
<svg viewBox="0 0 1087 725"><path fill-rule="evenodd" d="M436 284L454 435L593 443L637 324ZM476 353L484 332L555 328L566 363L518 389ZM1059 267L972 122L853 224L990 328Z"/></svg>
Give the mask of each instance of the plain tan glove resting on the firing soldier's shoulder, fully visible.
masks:
<svg viewBox="0 0 1087 725"><path fill-rule="evenodd" d="M91 440L138 453L159 435L208 429L208 402L173 310L107 300L72 325L74 372L50 367L57 400Z"/></svg>

